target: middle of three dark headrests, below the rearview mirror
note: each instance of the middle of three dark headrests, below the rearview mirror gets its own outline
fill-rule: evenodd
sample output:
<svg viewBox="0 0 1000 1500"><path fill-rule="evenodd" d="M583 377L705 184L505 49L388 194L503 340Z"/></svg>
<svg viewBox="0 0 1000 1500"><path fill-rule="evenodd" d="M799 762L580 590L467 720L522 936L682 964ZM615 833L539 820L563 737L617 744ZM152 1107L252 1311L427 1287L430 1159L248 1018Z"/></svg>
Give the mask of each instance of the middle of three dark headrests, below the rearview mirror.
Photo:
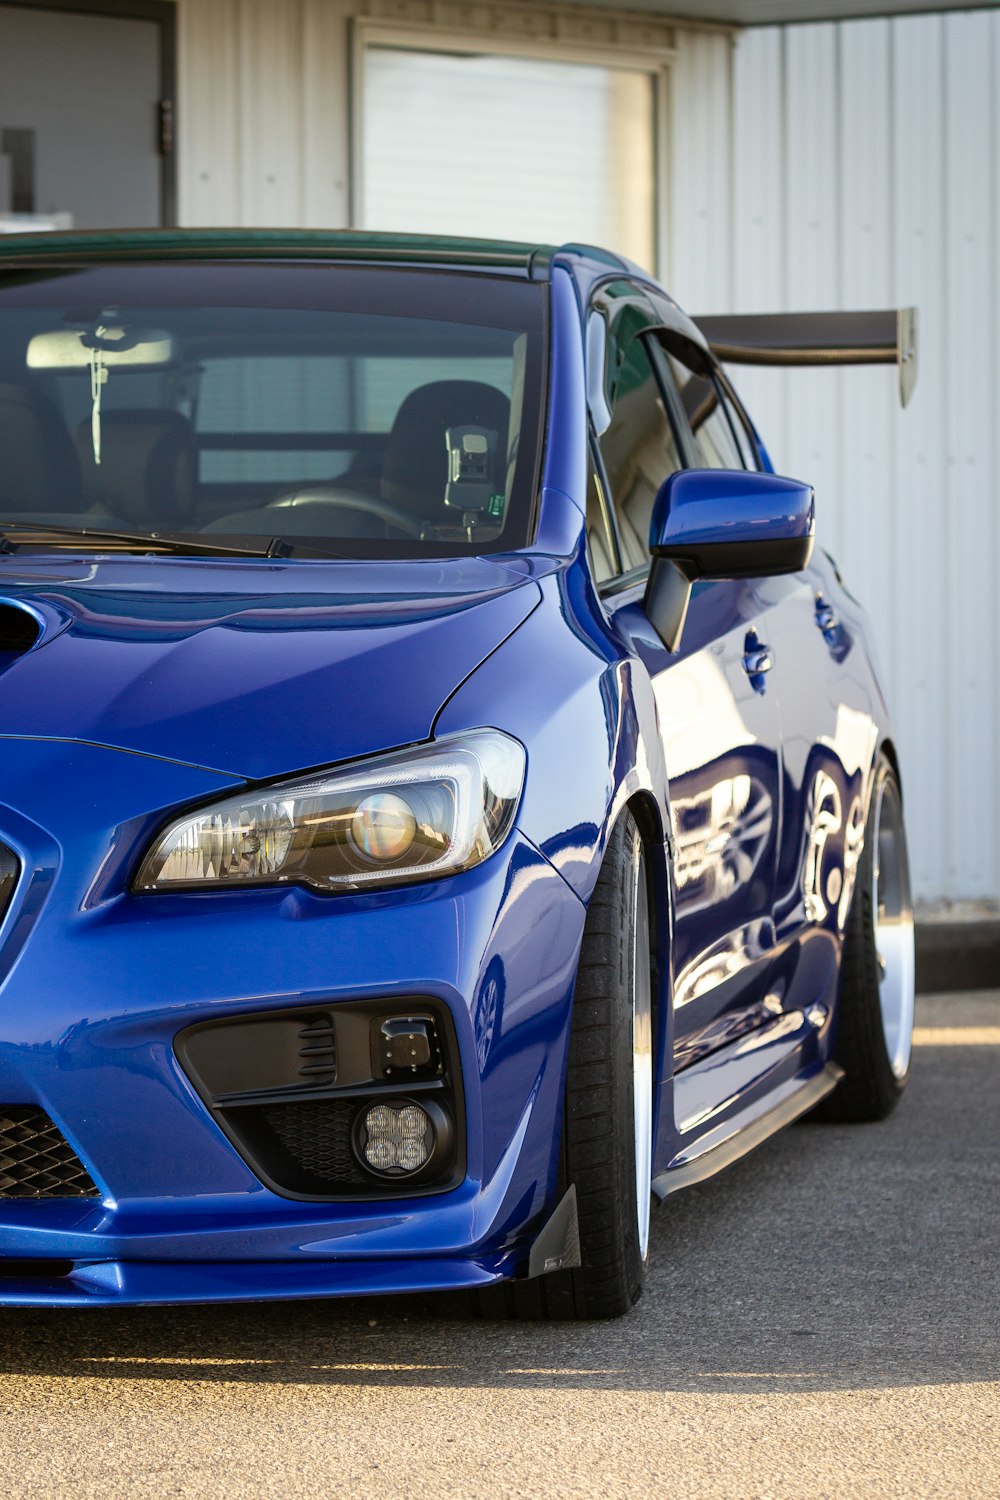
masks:
<svg viewBox="0 0 1000 1500"><path fill-rule="evenodd" d="M90 423L76 429L84 490L91 504L141 524L177 524L195 508L198 453L187 417L157 408L105 411L100 464Z"/></svg>

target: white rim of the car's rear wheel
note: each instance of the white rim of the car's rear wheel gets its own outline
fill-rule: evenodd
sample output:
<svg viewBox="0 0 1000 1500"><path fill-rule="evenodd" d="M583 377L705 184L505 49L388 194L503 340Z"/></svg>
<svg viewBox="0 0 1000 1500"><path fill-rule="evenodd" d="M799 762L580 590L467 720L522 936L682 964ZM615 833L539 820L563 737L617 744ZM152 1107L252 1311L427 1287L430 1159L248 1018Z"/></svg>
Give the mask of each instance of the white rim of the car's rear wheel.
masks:
<svg viewBox="0 0 1000 1500"><path fill-rule="evenodd" d="M882 1034L889 1066L904 1078L913 1046L913 900L906 854L903 807L892 782L877 789L873 860L873 927L879 964Z"/></svg>

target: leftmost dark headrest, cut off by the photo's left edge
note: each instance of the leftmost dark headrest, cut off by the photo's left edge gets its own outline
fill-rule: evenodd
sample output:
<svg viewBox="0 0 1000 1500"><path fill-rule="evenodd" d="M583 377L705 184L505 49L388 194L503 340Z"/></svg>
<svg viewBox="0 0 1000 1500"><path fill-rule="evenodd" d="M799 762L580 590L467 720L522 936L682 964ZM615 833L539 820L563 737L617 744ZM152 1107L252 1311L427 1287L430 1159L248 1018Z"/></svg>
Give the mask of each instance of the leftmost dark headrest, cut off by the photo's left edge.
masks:
<svg viewBox="0 0 1000 1500"><path fill-rule="evenodd" d="M79 464L57 408L24 386L0 384L0 514L82 508Z"/></svg>

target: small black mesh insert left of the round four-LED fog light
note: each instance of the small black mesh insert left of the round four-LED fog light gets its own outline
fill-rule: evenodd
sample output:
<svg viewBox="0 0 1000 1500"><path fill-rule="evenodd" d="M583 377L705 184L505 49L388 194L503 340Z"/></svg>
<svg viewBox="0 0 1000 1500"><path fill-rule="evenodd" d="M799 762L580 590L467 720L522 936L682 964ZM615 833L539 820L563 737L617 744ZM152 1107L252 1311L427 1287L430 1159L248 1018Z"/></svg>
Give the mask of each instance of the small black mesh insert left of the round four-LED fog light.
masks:
<svg viewBox="0 0 1000 1500"><path fill-rule="evenodd" d="M250 1158L286 1192L325 1197L370 1186L351 1146L357 1100L295 1100L228 1110Z"/></svg>

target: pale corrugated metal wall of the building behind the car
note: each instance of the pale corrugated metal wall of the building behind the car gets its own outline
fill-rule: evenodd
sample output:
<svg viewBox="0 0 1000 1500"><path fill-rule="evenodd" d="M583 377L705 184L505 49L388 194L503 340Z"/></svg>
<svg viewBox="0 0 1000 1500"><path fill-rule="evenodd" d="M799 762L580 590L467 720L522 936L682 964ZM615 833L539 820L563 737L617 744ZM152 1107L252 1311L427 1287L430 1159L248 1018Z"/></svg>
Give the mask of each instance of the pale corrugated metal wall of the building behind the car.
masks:
<svg viewBox="0 0 1000 1500"><path fill-rule="evenodd" d="M358 4L178 9L181 222L346 224ZM676 40L661 270L679 300L921 308L906 412L886 369L736 378L873 614L918 891L996 898L1000 14Z"/></svg>

